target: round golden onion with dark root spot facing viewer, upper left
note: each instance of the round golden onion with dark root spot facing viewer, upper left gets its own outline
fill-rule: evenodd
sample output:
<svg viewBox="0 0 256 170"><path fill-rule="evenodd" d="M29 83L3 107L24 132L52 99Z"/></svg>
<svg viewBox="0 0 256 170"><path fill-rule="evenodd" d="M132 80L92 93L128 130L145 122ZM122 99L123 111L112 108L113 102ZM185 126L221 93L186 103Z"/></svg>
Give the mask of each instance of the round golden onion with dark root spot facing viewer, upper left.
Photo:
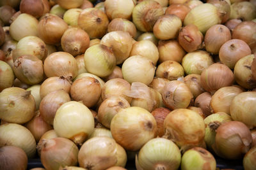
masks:
<svg viewBox="0 0 256 170"><path fill-rule="evenodd" d="M102 38L108 31L107 15L97 8L87 8L81 11L77 25L88 33L91 39Z"/></svg>

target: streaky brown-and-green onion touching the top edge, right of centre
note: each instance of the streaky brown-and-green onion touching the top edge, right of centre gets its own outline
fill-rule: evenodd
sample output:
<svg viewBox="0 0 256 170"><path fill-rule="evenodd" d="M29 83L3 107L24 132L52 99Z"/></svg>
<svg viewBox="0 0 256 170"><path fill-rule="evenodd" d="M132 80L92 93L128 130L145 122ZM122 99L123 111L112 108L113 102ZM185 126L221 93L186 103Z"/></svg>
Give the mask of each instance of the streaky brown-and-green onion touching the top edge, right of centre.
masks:
<svg viewBox="0 0 256 170"><path fill-rule="evenodd" d="M156 1L143 1L132 11L132 21L143 32L152 31L158 18L164 15L162 6Z"/></svg>

